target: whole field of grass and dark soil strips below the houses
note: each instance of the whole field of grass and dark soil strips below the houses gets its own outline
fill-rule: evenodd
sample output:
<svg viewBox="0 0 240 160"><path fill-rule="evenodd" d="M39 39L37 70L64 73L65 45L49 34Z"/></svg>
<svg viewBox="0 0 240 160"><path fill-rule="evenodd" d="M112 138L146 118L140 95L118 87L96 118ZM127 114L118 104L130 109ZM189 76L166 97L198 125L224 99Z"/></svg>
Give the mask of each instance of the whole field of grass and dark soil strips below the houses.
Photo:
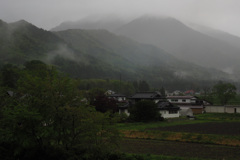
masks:
<svg viewBox="0 0 240 160"><path fill-rule="evenodd" d="M176 118L163 122L117 124L124 141L121 150L156 155L153 159L160 155L176 160L239 160L240 114L201 114L196 117L196 120Z"/></svg>

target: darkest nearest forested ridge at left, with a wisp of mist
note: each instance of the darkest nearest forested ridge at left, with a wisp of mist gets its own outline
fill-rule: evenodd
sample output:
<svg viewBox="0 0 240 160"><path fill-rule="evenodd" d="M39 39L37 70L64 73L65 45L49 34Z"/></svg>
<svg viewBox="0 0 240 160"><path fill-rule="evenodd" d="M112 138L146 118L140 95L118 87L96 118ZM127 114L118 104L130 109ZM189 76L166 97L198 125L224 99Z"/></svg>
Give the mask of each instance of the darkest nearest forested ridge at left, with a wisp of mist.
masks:
<svg viewBox="0 0 240 160"><path fill-rule="evenodd" d="M9 24L0 21L0 35L0 66L7 63L22 65L37 59L55 65L73 77L119 76L119 68L77 51L54 33L24 20Z"/></svg>

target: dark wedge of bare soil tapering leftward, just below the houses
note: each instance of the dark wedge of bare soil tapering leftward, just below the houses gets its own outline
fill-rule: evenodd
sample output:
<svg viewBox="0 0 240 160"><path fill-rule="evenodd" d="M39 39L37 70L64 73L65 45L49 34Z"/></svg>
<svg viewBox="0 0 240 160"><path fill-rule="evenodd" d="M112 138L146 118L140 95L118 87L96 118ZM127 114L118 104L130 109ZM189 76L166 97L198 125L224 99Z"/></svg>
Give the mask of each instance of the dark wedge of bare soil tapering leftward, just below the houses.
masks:
<svg viewBox="0 0 240 160"><path fill-rule="evenodd" d="M240 136L240 122L197 123L158 127L150 130Z"/></svg>

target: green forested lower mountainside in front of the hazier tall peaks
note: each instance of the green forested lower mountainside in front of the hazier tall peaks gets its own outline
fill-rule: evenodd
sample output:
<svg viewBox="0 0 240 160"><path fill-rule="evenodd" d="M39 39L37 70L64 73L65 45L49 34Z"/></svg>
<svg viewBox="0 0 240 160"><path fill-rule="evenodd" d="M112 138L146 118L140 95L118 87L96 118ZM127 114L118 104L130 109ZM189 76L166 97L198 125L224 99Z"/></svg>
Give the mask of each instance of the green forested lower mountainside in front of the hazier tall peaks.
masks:
<svg viewBox="0 0 240 160"><path fill-rule="evenodd" d="M38 59L76 78L147 80L152 86L192 86L229 75L174 58L153 45L106 30L49 32L26 21L0 21L0 65Z"/></svg>

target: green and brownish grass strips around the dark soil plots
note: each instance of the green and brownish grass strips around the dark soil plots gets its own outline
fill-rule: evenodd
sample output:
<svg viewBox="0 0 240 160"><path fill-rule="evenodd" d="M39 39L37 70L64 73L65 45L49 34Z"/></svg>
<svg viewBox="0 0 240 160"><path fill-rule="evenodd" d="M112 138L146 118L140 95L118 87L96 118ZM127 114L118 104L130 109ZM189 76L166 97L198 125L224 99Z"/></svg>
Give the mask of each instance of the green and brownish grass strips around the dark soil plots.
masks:
<svg viewBox="0 0 240 160"><path fill-rule="evenodd" d="M211 134L198 134L198 133L184 133L184 132L168 132L168 131L154 131L147 130L149 128L158 128L165 126L176 126L186 124L197 124L197 123L208 123L208 122L240 122L240 114L227 114L227 113L205 113L196 115L196 120L189 120L185 117L169 119L160 122L149 122L149 123L118 123L116 124L117 129L124 132L131 132L139 139L141 136L148 137L147 140L165 140L171 141L183 141L192 143L203 143L203 144L220 144L220 145L233 145L235 142L239 143L239 136L225 136L225 135L211 135ZM136 133L135 133L136 132ZM131 135L130 133L130 135ZM139 133L139 134L138 134ZM132 138L133 138L132 137ZM145 138L146 138L145 137ZM170 138L169 138L170 137ZM136 139L138 139L136 138ZM176 138L176 140L174 140ZM177 139L179 138L179 139ZM224 140L224 141L223 141ZM219 142L219 143L218 143ZM221 142L221 143L220 143ZM148 152L146 152L148 153ZM189 158L189 157L176 157L176 156L165 156L165 155L152 155L152 154L128 154L129 159L134 160L209 160L202 158Z"/></svg>

